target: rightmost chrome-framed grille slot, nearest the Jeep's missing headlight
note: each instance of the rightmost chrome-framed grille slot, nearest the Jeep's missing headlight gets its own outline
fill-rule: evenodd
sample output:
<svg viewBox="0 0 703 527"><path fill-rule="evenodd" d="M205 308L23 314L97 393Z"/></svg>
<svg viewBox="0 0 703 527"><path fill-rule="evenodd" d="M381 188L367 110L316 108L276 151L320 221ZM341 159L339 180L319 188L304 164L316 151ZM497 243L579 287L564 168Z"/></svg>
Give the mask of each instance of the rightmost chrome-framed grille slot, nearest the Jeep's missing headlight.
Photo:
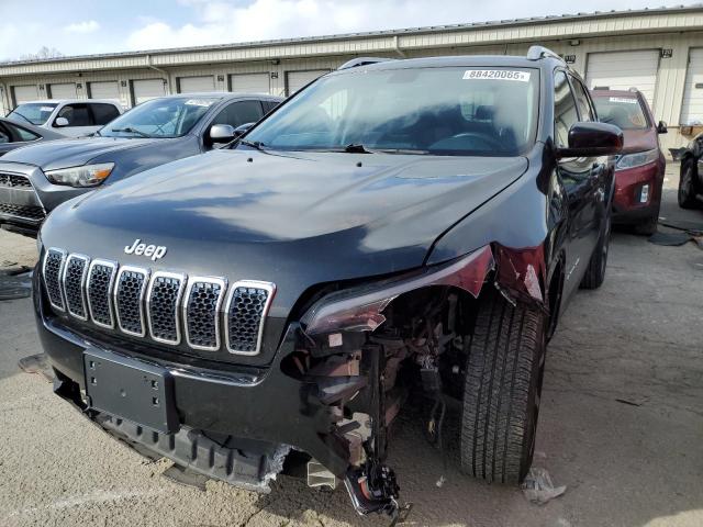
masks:
<svg viewBox="0 0 703 527"><path fill-rule="evenodd" d="M241 355L258 352L264 329L261 322L272 296L272 283L242 281L232 287L224 322L230 352Z"/></svg>

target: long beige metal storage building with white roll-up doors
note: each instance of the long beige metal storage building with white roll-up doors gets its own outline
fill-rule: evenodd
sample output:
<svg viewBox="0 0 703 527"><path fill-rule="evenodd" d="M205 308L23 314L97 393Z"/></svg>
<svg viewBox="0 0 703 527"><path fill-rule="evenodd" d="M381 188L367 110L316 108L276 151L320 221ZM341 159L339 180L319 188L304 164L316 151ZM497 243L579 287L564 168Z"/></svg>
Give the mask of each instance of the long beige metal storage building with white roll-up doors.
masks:
<svg viewBox="0 0 703 527"><path fill-rule="evenodd" d="M356 56L523 55L532 44L561 54L590 88L639 88L669 124L665 147L703 130L700 4L2 63L0 111L48 98L132 106L192 91L290 94Z"/></svg>

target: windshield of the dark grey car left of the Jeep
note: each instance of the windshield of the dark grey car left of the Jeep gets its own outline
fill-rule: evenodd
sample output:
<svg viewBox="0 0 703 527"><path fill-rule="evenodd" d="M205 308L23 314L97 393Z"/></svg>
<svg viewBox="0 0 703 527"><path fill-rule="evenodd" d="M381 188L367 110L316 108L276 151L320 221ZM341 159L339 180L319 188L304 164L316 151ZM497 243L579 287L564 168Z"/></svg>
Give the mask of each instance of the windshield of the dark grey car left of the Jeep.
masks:
<svg viewBox="0 0 703 527"><path fill-rule="evenodd" d="M216 98L154 99L130 110L100 130L105 137L180 137L192 130Z"/></svg>

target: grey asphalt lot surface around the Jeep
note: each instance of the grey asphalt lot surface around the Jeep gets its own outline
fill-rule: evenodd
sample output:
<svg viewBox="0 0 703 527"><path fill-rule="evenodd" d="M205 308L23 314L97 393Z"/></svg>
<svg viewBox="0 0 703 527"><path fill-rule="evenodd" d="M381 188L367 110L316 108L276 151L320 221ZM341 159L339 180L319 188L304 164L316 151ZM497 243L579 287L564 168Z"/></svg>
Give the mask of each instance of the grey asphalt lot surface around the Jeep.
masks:
<svg viewBox="0 0 703 527"><path fill-rule="evenodd" d="M662 216L703 222L679 211L672 190ZM390 463L414 503L408 525L703 525L703 250L626 232L611 247L604 285L577 295L547 355L535 466L566 494L537 506L517 489L444 472L405 417ZM31 264L35 253L34 240L0 232L0 264ZM359 519L343 490L287 476L267 496L160 476L167 461L111 440L18 369L40 351L29 299L0 302L0 525L388 525Z"/></svg>

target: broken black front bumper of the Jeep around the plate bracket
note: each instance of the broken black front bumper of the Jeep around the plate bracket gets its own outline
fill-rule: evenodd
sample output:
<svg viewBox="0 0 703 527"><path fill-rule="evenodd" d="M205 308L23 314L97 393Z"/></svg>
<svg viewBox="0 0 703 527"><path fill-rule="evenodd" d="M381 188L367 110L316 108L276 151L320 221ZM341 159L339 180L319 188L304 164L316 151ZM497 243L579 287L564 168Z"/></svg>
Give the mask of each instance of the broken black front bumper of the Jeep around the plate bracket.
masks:
<svg viewBox="0 0 703 527"><path fill-rule="evenodd" d="M269 491L269 481L281 471L291 448L314 458L339 481L348 478L348 444L334 433L339 416L323 402L314 381L282 371L283 358L301 345L298 325L290 325L270 367L183 367L132 349L110 346L108 351L103 343L68 328L47 309L40 274L34 273L36 323L56 372L55 392L105 431L143 453L167 457L250 491ZM91 408L85 391L83 354L96 349L168 372L178 430L159 434Z"/></svg>

